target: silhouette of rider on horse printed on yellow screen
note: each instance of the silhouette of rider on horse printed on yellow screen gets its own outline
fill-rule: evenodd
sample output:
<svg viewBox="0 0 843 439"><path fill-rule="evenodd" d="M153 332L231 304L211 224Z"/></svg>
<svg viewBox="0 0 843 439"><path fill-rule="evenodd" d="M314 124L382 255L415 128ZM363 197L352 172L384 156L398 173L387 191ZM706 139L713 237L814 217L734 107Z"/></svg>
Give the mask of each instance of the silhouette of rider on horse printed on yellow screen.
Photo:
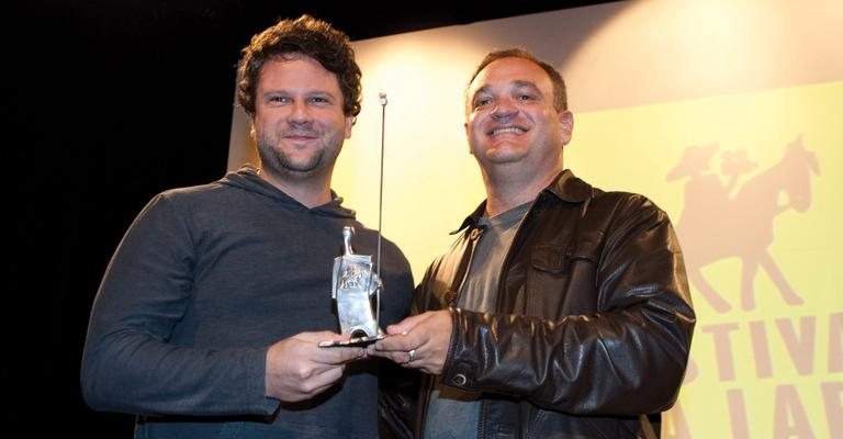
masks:
<svg viewBox="0 0 843 439"><path fill-rule="evenodd" d="M685 206L676 224L687 264L688 280L711 307L719 313L731 305L702 275L701 268L729 257L742 262L741 305L755 307L754 281L763 268L788 305L803 303L769 255L774 240L773 219L794 209L805 212L811 205L811 175L820 173L817 157L805 149L802 136L785 148L783 158L755 175L732 196L738 177L754 168L742 153L727 154L722 172L731 177L723 184L720 177L705 173L717 145L690 146L681 162L667 173L667 180L689 177L685 184ZM782 198L786 198L783 203Z"/></svg>

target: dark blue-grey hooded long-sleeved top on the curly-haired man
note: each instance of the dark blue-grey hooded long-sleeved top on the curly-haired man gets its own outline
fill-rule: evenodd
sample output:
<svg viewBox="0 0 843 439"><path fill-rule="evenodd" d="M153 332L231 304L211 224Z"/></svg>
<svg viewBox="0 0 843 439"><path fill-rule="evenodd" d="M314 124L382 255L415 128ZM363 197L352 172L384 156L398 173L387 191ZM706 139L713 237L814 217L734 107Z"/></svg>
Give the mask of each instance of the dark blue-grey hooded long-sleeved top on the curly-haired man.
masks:
<svg viewBox="0 0 843 439"><path fill-rule="evenodd" d="M267 349L301 331L339 331L331 300L342 227L355 252L376 232L337 198L308 209L250 167L156 195L126 232L91 312L86 402L138 415L138 438L373 438L378 360L350 363L305 403L265 396ZM407 313L406 258L382 244L381 327Z"/></svg>

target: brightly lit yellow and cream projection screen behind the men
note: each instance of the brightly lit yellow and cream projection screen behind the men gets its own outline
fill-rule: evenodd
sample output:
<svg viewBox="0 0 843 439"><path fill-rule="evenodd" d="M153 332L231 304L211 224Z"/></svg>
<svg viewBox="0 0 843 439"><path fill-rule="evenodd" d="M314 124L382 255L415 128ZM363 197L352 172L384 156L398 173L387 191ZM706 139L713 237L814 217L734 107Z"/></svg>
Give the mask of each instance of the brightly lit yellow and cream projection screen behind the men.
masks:
<svg viewBox="0 0 843 439"><path fill-rule="evenodd" d="M359 41L363 111L334 188L378 227L387 93L383 233L419 280L484 198L468 76L525 45L569 83L565 167L676 225L699 323L663 437L843 438L840 42L831 0L621 1ZM247 133L238 111L229 169L257 160Z"/></svg>

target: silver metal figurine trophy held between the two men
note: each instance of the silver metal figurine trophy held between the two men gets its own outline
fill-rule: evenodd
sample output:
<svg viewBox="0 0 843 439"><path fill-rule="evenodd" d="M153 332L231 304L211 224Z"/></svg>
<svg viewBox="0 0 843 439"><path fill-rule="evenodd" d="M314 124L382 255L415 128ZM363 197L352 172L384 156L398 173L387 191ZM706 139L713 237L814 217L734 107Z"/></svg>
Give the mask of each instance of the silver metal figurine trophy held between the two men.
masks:
<svg viewBox="0 0 843 439"><path fill-rule="evenodd" d="M337 317L341 334L350 336L342 341L322 341L321 347L368 346L385 337L378 326L381 291L383 283L372 271L371 255L356 255L351 248L355 228L342 228L344 255L334 259L331 297L337 305ZM378 304L372 309L372 297Z"/></svg>

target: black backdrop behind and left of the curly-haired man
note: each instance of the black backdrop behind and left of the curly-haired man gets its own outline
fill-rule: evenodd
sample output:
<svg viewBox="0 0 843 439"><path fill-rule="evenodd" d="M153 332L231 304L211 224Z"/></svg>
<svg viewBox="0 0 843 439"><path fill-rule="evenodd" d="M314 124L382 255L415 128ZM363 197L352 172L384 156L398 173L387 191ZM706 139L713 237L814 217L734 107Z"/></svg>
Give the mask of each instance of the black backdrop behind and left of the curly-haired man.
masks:
<svg viewBox="0 0 843 439"><path fill-rule="evenodd" d="M364 40L602 2L7 3L4 416L25 436L131 437L131 416L81 399L88 313L144 204L224 175L235 66L254 33L306 12Z"/></svg>

